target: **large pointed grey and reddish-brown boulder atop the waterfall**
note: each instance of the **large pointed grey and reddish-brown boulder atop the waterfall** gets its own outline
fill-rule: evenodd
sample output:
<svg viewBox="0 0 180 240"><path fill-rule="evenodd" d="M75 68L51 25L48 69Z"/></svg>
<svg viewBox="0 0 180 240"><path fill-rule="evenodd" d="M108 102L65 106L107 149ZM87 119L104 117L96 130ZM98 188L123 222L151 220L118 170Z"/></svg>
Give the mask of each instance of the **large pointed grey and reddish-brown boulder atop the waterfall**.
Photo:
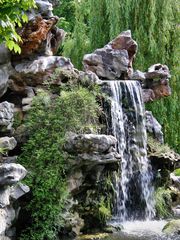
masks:
<svg viewBox="0 0 180 240"><path fill-rule="evenodd" d="M137 52L137 43L131 38L131 31L122 32L104 48L86 54L83 65L102 79L124 79L132 75L132 62Z"/></svg>

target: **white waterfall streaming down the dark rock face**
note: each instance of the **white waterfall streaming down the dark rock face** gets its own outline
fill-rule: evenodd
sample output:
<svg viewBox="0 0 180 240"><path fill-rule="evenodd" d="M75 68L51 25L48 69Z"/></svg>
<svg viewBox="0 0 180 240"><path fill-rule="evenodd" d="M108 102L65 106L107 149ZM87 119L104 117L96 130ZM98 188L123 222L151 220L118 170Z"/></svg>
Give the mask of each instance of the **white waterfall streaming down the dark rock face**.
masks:
<svg viewBox="0 0 180 240"><path fill-rule="evenodd" d="M137 81L108 81L111 90L111 133L122 156L116 177L114 219L152 219L152 169L146 152L146 128L141 87Z"/></svg>

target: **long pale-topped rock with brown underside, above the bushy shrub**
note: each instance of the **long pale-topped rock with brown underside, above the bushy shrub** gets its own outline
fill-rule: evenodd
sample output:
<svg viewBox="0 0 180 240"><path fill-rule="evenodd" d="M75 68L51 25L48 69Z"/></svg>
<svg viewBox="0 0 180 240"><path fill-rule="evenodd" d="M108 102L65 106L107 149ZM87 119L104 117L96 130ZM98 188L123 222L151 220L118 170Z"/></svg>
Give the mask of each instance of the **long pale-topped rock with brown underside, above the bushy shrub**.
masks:
<svg viewBox="0 0 180 240"><path fill-rule="evenodd" d="M68 58L58 56L42 56L33 61L24 61L15 66L16 76L11 79L19 86L37 86L45 80L53 82L52 73L56 68L61 70L73 70L73 65ZM22 90L25 89L23 86Z"/></svg>

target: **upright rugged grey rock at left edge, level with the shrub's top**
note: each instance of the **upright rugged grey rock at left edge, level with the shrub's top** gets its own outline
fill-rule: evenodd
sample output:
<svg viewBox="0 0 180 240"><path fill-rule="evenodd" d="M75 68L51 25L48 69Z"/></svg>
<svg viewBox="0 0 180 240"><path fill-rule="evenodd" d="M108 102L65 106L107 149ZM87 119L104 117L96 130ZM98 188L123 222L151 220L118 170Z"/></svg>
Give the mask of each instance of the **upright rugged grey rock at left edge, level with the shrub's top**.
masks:
<svg viewBox="0 0 180 240"><path fill-rule="evenodd" d="M14 120L14 104L7 101L0 103L0 126L11 129Z"/></svg>

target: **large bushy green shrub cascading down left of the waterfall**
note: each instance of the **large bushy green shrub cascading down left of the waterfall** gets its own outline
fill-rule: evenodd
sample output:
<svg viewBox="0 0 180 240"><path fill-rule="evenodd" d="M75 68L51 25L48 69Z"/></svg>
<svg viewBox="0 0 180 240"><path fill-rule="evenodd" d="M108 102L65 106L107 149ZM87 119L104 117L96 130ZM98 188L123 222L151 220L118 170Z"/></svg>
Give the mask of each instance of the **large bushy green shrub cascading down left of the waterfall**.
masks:
<svg viewBox="0 0 180 240"><path fill-rule="evenodd" d="M89 126L96 129L98 112L94 95L84 88L62 91L56 99L41 90L34 98L25 122L29 140L18 160L30 173L25 182L32 194L26 206L31 216L19 239L56 239L63 226L66 173L71 167L63 150L65 135L84 132Z"/></svg>

